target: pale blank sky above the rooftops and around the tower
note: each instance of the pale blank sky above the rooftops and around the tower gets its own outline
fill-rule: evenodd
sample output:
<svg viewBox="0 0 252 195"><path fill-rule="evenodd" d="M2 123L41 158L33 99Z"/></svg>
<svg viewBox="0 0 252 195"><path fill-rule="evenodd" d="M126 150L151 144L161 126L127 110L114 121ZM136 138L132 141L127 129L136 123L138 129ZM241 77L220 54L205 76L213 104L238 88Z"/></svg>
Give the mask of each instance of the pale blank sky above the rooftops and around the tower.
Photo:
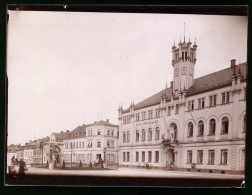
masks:
<svg viewBox="0 0 252 195"><path fill-rule="evenodd" d="M246 62L247 24L242 16L10 11L8 144L101 119L118 124L120 104L170 86L171 48L184 35L196 37L195 78Z"/></svg>

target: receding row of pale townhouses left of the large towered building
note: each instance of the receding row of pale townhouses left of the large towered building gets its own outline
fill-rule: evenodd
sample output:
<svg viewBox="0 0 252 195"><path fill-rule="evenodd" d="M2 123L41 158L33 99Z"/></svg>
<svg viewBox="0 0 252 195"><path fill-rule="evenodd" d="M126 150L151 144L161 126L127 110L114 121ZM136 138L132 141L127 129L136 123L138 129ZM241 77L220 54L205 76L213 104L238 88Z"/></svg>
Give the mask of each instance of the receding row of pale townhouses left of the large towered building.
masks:
<svg viewBox="0 0 252 195"><path fill-rule="evenodd" d="M8 164L14 156L23 159L26 165L41 166L47 163L90 164L99 159L108 164L118 163L118 125L109 120L81 125L72 131L52 133L50 136L30 141L24 146L10 145L7 151Z"/></svg>

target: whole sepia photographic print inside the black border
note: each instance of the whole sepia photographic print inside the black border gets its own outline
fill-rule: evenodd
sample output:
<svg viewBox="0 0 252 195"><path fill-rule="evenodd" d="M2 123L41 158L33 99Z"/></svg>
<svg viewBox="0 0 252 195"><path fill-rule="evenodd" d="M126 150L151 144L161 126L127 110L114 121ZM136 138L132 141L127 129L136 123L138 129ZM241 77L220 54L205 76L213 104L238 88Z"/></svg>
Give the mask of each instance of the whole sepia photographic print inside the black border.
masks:
<svg viewBox="0 0 252 195"><path fill-rule="evenodd" d="M6 185L245 187L247 16L63 9L8 10Z"/></svg>

